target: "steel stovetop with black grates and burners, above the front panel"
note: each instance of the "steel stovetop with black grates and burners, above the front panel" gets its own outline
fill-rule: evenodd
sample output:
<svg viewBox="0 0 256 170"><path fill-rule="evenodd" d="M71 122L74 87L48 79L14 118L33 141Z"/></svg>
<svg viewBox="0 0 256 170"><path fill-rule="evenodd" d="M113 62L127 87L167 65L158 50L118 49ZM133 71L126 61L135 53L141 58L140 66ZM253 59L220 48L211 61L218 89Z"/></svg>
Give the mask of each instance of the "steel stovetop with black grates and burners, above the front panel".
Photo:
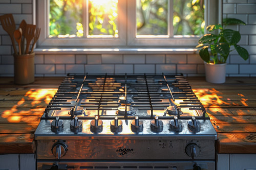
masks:
<svg viewBox="0 0 256 170"><path fill-rule="evenodd" d="M115 117L121 122L116 121L114 125ZM200 124L199 129L188 128L191 119ZM71 125L76 128L80 125L74 124L78 120L82 127L72 131ZM174 120L182 123L181 129L173 130L170 122ZM53 130L56 122L63 124L60 130ZM95 122L100 124L96 125L96 130ZM143 129L138 128L138 123L143 123ZM110 130L111 124L115 132ZM55 126L58 129L59 125ZM69 74L47 106L35 132L35 136L170 134L217 135L204 107L182 75Z"/></svg>

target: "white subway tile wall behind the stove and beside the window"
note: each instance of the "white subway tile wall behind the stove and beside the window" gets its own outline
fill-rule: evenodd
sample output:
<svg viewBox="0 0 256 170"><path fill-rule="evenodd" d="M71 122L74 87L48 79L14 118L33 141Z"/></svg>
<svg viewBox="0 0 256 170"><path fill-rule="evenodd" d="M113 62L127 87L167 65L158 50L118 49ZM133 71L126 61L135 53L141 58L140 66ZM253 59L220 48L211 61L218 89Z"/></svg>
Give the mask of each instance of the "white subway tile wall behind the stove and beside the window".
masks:
<svg viewBox="0 0 256 170"><path fill-rule="evenodd" d="M0 15L12 13L16 26L25 19L32 23L34 0L1 0ZM223 0L223 17L243 20L246 26L231 26L241 33L240 45L250 55L244 61L236 52L227 60L227 76L256 77L256 0ZM196 44L195 44L196 45ZM0 26L0 77L13 76L13 48L8 34ZM35 76L65 76L71 73L180 73L185 76L204 76L204 64L198 54L84 54L70 52L35 55Z"/></svg>

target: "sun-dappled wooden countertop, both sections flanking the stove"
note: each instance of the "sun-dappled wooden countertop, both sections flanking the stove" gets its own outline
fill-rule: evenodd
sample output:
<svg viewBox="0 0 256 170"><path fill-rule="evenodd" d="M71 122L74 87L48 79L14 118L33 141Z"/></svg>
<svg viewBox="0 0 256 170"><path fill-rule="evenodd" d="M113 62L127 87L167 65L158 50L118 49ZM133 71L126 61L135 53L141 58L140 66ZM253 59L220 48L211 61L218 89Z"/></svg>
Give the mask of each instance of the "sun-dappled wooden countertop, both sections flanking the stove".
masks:
<svg viewBox="0 0 256 170"><path fill-rule="evenodd" d="M35 78L29 85L0 80L0 154L35 153L34 131L61 78ZM218 132L218 153L256 153L256 78L224 84L187 78Z"/></svg>

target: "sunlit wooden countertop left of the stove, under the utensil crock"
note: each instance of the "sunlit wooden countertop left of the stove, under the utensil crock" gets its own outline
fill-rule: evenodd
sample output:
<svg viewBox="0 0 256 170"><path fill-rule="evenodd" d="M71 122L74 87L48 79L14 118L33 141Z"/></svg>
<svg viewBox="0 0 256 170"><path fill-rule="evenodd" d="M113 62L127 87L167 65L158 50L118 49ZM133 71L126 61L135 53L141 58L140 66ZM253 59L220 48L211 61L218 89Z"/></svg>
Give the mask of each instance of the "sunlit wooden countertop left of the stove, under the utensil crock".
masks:
<svg viewBox="0 0 256 170"><path fill-rule="evenodd" d="M0 154L35 153L34 132L62 78L35 78L29 85L0 79Z"/></svg>

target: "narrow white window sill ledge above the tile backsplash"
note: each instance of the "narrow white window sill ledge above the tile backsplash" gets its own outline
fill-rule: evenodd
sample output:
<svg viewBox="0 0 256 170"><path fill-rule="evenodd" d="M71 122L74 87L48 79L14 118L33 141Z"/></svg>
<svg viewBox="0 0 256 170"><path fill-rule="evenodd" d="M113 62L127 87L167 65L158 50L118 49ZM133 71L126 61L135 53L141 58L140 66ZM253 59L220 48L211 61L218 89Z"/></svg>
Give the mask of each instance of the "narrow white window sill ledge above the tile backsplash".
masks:
<svg viewBox="0 0 256 170"><path fill-rule="evenodd" d="M195 54L197 48L36 48L36 54Z"/></svg>

